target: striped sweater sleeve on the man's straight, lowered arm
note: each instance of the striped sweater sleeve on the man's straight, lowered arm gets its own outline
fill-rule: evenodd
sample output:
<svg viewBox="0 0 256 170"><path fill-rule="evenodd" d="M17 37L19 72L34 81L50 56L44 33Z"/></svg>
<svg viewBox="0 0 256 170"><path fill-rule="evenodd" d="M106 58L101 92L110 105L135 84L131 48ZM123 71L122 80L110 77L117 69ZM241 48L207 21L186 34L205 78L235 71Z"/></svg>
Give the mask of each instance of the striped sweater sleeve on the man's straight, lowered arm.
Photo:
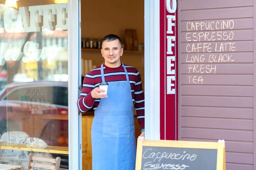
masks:
<svg viewBox="0 0 256 170"><path fill-rule="evenodd" d="M145 128L145 98L142 88L142 82L139 71L135 77L135 86L134 86L134 100L135 100L135 109L137 113L137 119L140 124L140 128L144 131Z"/></svg>

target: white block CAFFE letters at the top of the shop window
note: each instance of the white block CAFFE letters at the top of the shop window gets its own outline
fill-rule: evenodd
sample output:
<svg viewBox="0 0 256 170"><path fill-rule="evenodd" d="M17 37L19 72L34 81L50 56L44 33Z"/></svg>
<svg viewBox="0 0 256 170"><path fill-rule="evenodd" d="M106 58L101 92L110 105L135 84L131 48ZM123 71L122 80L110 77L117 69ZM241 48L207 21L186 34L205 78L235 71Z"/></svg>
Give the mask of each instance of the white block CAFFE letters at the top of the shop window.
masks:
<svg viewBox="0 0 256 170"><path fill-rule="evenodd" d="M0 6L0 14L3 6ZM4 27L0 26L0 33L40 32L46 29L67 30L67 3L42 6L6 8L3 17Z"/></svg>

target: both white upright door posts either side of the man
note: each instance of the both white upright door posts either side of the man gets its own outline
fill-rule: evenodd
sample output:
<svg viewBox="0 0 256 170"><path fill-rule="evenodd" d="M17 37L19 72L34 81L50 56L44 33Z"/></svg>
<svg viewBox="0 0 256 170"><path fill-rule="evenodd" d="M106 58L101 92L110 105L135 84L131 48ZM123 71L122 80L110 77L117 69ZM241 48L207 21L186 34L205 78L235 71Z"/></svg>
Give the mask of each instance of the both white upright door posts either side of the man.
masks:
<svg viewBox="0 0 256 170"><path fill-rule="evenodd" d="M160 1L145 0L145 139L160 140ZM80 0L68 1L69 169L81 170L81 115L77 109L81 75ZM78 133L76 133L78 132Z"/></svg>

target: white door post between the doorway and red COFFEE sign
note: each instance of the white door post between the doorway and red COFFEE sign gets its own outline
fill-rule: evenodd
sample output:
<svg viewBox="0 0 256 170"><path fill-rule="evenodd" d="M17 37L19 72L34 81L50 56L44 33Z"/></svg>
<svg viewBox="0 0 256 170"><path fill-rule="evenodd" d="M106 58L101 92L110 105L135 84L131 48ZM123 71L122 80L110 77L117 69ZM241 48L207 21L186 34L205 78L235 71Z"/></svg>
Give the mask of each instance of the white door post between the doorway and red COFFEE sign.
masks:
<svg viewBox="0 0 256 170"><path fill-rule="evenodd" d="M145 139L160 140L160 0L144 0Z"/></svg>

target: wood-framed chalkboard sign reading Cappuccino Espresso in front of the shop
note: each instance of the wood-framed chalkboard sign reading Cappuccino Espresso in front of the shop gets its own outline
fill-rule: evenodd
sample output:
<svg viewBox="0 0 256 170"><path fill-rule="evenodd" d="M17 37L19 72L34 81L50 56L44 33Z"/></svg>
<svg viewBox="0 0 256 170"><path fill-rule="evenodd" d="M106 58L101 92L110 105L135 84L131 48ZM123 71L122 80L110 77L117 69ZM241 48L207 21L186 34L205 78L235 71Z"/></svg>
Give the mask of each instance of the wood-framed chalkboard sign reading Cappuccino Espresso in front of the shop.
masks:
<svg viewBox="0 0 256 170"><path fill-rule="evenodd" d="M136 170L225 170L224 141L138 139Z"/></svg>

